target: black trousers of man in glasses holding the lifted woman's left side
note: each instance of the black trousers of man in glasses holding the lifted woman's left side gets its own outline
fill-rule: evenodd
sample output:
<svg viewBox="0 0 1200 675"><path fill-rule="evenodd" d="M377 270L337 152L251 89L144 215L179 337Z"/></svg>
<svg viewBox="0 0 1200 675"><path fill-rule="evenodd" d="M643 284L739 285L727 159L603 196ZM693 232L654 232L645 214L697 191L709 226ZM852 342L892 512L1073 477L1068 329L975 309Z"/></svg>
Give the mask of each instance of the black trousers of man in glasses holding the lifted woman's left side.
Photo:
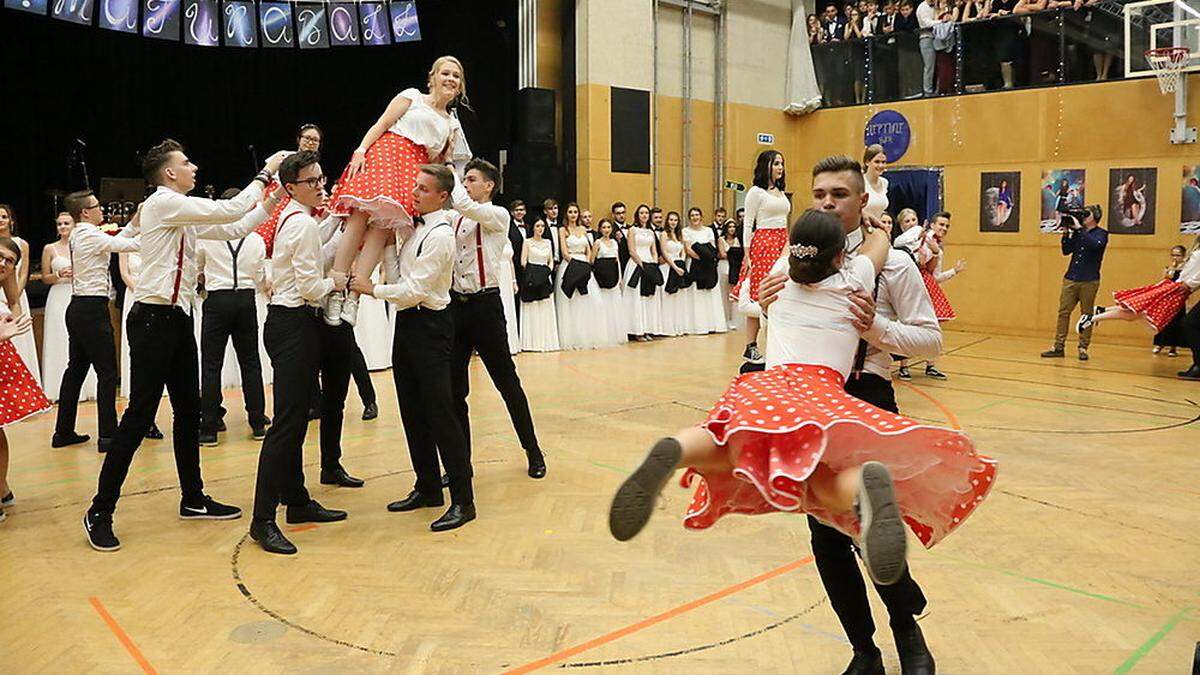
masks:
<svg viewBox="0 0 1200 675"><path fill-rule="evenodd" d="M263 342L275 369L275 420L258 453L254 520L275 520L280 502L308 503L304 486L304 438L316 382L320 318L316 307L268 305Z"/></svg>

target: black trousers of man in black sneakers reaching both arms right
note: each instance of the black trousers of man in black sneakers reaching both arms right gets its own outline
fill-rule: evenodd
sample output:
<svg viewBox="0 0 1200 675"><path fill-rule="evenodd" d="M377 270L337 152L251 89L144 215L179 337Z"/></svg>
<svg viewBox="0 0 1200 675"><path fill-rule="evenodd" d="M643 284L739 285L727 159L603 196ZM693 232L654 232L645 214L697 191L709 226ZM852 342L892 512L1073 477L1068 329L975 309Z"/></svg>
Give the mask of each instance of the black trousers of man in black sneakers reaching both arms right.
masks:
<svg viewBox="0 0 1200 675"><path fill-rule="evenodd" d="M121 485L146 431L154 424L162 389L174 414L172 442L184 501L204 494L200 479L200 369L192 317L167 305L133 303L125 321L130 335L130 405L121 416L113 447L100 470L100 486L91 512L112 514Z"/></svg>

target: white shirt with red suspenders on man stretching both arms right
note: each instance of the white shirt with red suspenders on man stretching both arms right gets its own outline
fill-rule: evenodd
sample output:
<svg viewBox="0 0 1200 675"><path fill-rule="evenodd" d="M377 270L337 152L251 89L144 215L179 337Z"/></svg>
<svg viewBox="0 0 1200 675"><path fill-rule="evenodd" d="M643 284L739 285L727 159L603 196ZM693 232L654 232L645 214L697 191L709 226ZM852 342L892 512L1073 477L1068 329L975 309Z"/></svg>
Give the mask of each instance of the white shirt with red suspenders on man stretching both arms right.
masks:
<svg viewBox="0 0 1200 675"><path fill-rule="evenodd" d="M196 240L241 239L266 220L257 180L233 199L188 197L164 186L142 203L142 276L133 299L174 305L191 313L196 304ZM250 213L247 213L250 211Z"/></svg>

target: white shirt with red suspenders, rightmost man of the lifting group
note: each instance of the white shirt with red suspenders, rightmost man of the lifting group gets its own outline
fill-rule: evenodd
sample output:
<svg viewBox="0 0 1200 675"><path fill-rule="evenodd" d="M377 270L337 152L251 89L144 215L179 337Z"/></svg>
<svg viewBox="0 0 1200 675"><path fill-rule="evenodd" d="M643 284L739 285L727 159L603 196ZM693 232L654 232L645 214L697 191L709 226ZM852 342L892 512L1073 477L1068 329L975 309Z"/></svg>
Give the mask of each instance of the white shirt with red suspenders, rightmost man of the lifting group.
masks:
<svg viewBox="0 0 1200 675"><path fill-rule="evenodd" d="M457 293L478 293L498 288L509 244L509 210L491 202L470 198L458 174L454 177L450 202L458 216L451 222L455 231L454 286ZM509 258L511 264L511 257Z"/></svg>

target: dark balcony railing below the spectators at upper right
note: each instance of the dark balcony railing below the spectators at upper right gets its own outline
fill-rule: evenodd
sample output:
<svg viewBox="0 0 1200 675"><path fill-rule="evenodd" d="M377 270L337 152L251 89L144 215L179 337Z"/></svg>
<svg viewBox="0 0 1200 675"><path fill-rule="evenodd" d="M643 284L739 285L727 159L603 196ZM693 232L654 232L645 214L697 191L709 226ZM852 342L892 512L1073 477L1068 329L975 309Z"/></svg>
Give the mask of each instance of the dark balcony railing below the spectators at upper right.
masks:
<svg viewBox="0 0 1200 675"><path fill-rule="evenodd" d="M929 41L924 55L923 40ZM1134 47L1140 55L1148 46ZM896 31L811 48L826 107L1097 82L1124 73L1121 18L1087 7L958 23L948 38L936 42L918 31Z"/></svg>

